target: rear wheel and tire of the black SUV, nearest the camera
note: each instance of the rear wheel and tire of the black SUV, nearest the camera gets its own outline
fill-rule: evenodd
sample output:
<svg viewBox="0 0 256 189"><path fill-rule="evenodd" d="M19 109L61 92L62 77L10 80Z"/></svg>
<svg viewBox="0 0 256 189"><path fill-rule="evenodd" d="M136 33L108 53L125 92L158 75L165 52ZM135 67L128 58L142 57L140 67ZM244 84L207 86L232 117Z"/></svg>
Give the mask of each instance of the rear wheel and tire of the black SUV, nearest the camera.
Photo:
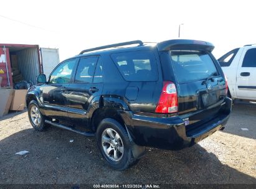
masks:
<svg viewBox="0 0 256 189"><path fill-rule="evenodd" d="M100 122L96 132L96 140L100 154L111 168L125 170L138 162L133 158L131 142L126 130L115 119L106 118ZM123 150L121 150L122 147Z"/></svg>

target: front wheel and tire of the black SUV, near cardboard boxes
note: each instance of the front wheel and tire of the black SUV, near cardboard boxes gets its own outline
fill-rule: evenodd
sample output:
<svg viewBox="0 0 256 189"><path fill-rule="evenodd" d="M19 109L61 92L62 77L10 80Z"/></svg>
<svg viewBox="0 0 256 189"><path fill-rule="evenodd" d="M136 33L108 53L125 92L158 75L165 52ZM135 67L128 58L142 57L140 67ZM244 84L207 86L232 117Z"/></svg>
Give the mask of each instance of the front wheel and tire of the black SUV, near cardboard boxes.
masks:
<svg viewBox="0 0 256 189"><path fill-rule="evenodd" d="M44 131L44 129L46 128L45 122L44 122L45 119L42 113L40 113L37 101L32 100L29 103L27 113L29 114L29 121L31 122L32 127L34 127L36 131ZM36 118L37 118L37 121L36 121Z"/></svg>

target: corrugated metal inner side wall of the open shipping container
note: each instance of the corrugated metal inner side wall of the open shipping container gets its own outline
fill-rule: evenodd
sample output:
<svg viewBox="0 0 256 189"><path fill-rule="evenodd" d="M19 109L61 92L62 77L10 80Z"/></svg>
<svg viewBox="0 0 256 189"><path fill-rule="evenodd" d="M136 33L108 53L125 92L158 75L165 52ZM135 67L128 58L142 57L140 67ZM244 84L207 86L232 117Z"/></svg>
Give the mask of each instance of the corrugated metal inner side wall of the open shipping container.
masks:
<svg viewBox="0 0 256 189"><path fill-rule="evenodd" d="M36 85L36 76L39 75L37 48L26 48L17 52L19 70L26 81Z"/></svg>

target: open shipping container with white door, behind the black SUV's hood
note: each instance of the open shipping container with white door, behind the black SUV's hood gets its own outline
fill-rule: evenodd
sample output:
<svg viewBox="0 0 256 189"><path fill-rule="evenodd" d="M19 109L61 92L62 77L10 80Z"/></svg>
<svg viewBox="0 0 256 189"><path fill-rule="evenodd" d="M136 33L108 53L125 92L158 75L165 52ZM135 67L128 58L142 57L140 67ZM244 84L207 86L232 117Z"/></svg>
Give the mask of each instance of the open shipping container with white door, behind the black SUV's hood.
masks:
<svg viewBox="0 0 256 189"><path fill-rule="evenodd" d="M36 85L36 76L50 71L59 63L59 49L39 45L0 44L1 87L13 87L19 81Z"/></svg>

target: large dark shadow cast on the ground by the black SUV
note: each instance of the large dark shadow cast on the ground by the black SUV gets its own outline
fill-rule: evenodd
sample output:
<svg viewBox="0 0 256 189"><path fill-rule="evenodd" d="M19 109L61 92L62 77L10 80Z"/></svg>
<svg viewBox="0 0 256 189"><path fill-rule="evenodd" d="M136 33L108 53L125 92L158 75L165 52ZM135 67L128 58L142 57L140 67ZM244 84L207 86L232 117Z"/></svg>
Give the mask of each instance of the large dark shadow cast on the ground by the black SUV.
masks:
<svg viewBox="0 0 256 189"><path fill-rule="evenodd" d="M73 139L73 142L70 140ZM14 155L21 150L26 155ZM179 151L147 148L138 164L110 169L95 139L49 127L25 129L0 141L1 183L254 183L256 179L224 165L200 145Z"/></svg>

